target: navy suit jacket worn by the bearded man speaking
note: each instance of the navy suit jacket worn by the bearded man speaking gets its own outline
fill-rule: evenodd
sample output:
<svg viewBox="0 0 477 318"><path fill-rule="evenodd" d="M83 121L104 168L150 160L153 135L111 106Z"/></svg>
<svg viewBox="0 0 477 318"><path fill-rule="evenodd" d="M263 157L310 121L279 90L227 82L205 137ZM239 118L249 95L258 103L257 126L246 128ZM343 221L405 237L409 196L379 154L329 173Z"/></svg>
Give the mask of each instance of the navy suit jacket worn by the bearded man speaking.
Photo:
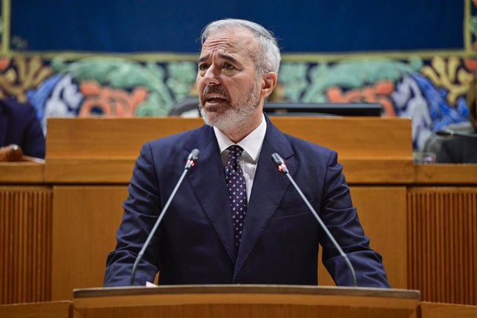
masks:
<svg viewBox="0 0 477 318"><path fill-rule="evenodd" d="M346 264L286 176L271 160L279 153L353 263L359 286L389 287L380 254L352 206L337 153L281 133L268 120L238 251L218 143L211 127L143 145L136 161L118 245L106 261L104 286L127 286L136 255L183 172L200 156L167 210L136 275L137 284L259 283L317 285L317 255L340 286L352 284Z"/></svg>

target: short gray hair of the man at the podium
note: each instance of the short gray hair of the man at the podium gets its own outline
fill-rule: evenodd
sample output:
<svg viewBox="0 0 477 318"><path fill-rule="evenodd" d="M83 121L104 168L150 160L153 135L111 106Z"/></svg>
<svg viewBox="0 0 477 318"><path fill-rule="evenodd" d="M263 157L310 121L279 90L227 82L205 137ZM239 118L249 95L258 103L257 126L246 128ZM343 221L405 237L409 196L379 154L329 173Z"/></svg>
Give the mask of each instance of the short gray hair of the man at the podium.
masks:
<svg viewBox="0 0 477 318"><path fill-rule="evenodd" d="M256 55L255 65L258 75L263 75L268 72L278 73L280 68L280 49L277 45L273 33L252 21L241 19L223 19L211 22L202 30L200 35L200 43L204 44L209 35L212 35L216 30L229 27L242 27L252 31L257 44L259 45L259 54Z"/></svg>

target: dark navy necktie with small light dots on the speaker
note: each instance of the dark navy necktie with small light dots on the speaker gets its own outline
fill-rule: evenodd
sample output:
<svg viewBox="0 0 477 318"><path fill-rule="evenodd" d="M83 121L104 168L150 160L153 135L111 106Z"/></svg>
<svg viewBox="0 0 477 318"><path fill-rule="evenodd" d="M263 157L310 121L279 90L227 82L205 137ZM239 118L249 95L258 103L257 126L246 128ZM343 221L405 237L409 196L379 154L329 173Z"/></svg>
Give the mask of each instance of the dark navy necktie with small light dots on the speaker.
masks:
<svg viewBox="0 0 477 318"><path fill-rule="evenodd" d="M227 191L229 193L230 208L232 209L232 221L234 223L234 241L235 246L240 245L243 232L243 223L245 223L245 214L247 214L247 191L245 191L245 177L240 167L240 157L242 156L242 147L234 144L227 148L229 152L229 161L225 166L225 180L227 182Z"/></svg>

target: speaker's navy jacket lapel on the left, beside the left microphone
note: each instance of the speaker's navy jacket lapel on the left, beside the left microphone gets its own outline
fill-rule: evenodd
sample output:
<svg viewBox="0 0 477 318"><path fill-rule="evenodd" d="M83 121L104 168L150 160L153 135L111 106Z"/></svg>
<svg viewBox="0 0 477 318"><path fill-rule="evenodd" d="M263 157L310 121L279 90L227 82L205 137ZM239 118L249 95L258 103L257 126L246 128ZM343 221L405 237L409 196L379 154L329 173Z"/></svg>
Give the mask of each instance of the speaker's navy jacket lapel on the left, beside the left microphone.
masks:
<svg viewBox="0 0 477 318"><path fill-rule="evenodd" d="M225 175L222 168L214 129L204 126L187 142L186 149L197 148L200 156L195 171L187 175L189 183L205 214L221 239L230 260L235 264L236 248L232 225L232 212L225 187Z"/></svg>

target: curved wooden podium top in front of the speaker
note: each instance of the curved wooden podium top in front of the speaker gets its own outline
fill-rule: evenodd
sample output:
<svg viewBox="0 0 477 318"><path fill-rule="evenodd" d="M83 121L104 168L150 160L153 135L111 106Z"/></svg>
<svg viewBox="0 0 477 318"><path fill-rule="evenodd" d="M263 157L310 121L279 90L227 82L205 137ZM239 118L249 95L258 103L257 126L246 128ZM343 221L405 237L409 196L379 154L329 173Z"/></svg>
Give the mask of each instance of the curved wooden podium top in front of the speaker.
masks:
<svg viewBox="0 0 477 318"><path fill-rule="evenodd" d="M413 317L418 290L203 285L75 290L73 318Z"/></svg>

